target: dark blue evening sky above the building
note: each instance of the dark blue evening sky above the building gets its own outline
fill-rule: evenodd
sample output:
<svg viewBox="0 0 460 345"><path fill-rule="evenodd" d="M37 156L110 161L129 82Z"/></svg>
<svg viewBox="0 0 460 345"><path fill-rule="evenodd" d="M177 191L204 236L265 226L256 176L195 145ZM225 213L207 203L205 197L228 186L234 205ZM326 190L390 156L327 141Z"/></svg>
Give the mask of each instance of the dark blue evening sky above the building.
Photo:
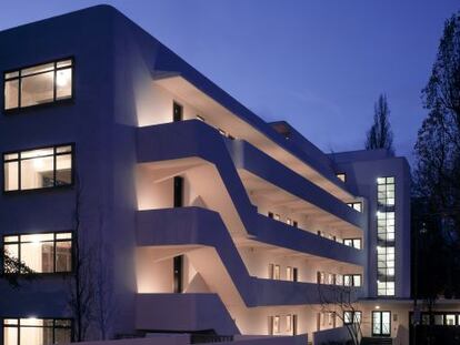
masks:
<svg viewBox="0 0 460 345"><path fill-rule="evenodd" d="M101 3L0 2L0 30ZM420 90L458 0L119 0L139 23L267 121L320 149L363 146L386 92L398 154L410 156ZM7 49L1 47L0 49Z"/></svg>

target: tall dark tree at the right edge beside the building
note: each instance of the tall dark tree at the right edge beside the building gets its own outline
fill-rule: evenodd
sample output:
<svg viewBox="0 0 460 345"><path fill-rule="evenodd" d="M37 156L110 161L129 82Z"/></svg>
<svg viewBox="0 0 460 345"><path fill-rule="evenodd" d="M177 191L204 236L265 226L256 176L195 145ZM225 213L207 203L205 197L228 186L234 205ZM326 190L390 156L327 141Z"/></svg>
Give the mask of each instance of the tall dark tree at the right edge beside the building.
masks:
<svg viewBox="0 0 460 345"><path fill-rule="evenodd" d="M460 296L460 13L444 23L422 99L428 116L414 148L413 191L426 230L418 256L428 260L419 260L418 290L432 305L439 295Z"/></svg>

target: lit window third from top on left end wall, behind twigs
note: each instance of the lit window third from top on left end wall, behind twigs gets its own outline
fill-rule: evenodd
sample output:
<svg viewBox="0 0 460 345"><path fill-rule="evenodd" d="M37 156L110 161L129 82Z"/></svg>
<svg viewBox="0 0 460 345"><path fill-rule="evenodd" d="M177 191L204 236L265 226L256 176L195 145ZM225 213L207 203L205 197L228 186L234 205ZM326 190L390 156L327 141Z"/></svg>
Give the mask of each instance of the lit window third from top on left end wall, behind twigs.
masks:
<svg viewBox="0 0 460 345"><path fill-rule="evenodd" d="M34 273L72 271L72 234L70 232L3 236L3 247L11 257L23 262Z"/></svg>

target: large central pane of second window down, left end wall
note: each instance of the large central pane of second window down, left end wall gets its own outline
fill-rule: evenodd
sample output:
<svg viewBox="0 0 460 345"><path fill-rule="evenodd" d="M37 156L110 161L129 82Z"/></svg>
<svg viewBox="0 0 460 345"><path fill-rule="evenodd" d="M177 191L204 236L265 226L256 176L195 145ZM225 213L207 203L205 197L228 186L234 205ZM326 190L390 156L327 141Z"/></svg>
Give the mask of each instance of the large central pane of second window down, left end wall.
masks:
<svg viewBox="0 0 460 345"><path fill-rule="evenodd" d="M21 190L53 186L53 164L52 156L21 161Z"/></svg>

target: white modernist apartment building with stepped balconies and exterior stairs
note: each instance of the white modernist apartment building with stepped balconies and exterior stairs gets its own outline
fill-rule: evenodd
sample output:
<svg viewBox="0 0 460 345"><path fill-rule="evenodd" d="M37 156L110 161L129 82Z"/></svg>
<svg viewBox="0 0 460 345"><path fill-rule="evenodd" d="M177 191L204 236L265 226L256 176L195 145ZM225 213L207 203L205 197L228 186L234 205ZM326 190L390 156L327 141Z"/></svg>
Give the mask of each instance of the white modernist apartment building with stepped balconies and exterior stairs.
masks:
<svg viewBox="0 0 460 345"><path fill-rule="evenodd" d="M2 244L32 271L3 267L4 345L71 341L76 271L90 339L409 327L404 158L321 152L107 6L0 47Z"/></svg>

